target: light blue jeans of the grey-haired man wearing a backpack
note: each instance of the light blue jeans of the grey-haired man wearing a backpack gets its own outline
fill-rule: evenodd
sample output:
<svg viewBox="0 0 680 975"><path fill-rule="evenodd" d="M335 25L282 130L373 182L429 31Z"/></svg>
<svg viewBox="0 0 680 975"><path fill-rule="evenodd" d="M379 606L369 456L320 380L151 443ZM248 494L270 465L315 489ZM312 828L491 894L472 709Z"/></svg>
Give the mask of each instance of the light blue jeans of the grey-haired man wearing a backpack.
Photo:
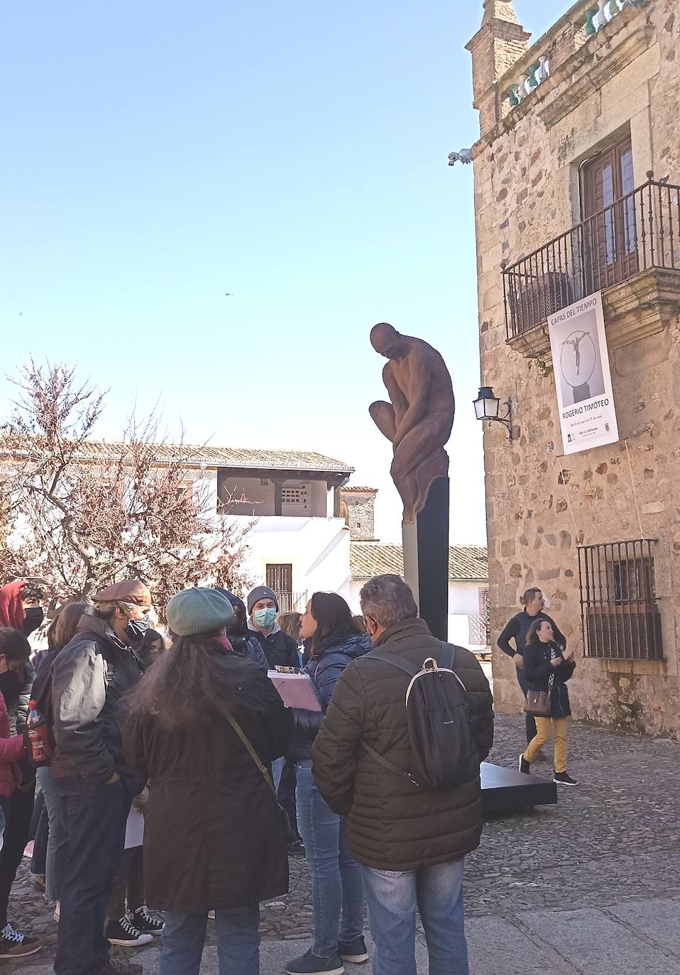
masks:
<svg viewBox="0 0 680 975"><path fill-rule="evenodd" d="M416 908L425 929L429 975L469 975L462 860L407 873L361 871L376 946L373 975L417 975Z"/></svg>

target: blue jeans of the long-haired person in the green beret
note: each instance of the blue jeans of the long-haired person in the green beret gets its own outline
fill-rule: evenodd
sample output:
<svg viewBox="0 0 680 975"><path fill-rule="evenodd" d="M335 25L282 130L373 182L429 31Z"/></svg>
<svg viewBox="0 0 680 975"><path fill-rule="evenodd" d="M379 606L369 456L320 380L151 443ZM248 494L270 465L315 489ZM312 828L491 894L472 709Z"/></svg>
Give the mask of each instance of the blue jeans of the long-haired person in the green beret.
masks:
<svg viewBox="0 0 680 975"><path fill-rule="evenodd" d="M159 975L198 975L206 941L205 914L166 912ZM220 975L260 975L260 906L216 911Z"/></svg>

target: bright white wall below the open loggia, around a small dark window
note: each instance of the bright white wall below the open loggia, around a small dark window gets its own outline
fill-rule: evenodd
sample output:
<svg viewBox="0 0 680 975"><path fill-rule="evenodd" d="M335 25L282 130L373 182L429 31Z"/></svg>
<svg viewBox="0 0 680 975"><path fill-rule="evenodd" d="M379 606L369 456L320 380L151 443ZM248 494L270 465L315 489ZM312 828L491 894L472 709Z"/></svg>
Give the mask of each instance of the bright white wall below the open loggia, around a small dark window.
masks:
<svg viewBox="0 0 680 975"><path fill-rule="evenodd" d="M248 518L234 518L249 524ZM340 518L258 518L247 536L245 570L261 585L268 563L293 565L293 591L349 598L349 529Z"/></svg>

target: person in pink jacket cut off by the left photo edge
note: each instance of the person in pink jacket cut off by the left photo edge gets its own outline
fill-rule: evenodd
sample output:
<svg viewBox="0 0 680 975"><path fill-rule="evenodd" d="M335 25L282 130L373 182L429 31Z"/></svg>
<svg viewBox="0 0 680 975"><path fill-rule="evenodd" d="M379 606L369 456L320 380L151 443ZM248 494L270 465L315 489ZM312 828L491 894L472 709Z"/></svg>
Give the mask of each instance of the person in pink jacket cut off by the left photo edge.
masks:
<svg viewBox="0 0 680 975"><path fill-rule="evenodd" d="M28 663L30 646L20 630L0 626L0 676L7 675L5 680L15 681L18 686L24 683L24 667ZM5 684L6 685L6 684ZM7 711L5 697L0 692L0 809L2 810L3 848L0 850L0 876L16 874L14 860L7 864L3 862L13 857L13 846L6 842L13 829L13 818L18 814L17 807L12 802L12 796L21 785L21 771L17 762L23 757L23 736L10 734L10 716ZM15 824L16 826L16 824ZM9 873L8 873L9 870ZM16 958L34 955L40 951L41 944L37 938L27 934L20 934L7 920L7 902L9 900L12 880L3 887L3 903L0 904L0 958ZM6 893L6 896L5 896Z"/></svg>

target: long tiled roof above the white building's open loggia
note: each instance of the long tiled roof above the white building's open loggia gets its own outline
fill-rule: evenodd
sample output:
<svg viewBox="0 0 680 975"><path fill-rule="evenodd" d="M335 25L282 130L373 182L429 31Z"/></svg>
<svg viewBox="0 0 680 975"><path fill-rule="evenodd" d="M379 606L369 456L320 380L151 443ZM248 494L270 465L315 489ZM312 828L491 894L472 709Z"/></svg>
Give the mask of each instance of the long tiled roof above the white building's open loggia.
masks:
<svg viewBox="0 0 680 975"><path fill-rule="evenodd" d="M124 445L116 441L86 441L79 455L83 458L120 456ZM187 466L252 467L262 470L303 470L324 473L351 474L354 468L341 460L325 457L310 450L265 450L259 448L212 447L195 444L156 444L154 452L159 462L180 456Z"/></svg>

